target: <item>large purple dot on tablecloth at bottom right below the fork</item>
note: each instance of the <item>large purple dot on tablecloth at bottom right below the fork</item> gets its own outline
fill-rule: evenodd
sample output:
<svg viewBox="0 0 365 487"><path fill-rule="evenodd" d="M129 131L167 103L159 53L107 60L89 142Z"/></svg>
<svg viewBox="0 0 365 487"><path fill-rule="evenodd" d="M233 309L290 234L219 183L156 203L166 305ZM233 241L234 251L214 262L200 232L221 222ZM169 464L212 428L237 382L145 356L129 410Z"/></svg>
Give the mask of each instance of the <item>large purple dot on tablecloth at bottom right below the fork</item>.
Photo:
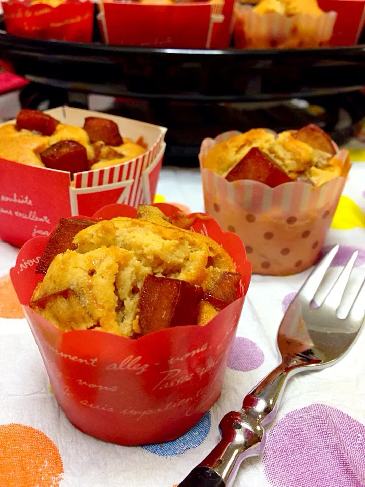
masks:
<svg viewBox="0 0 365 487"><path fill-rule="evenodd" d="M363 487L365 426L324 404L296 409L271 429L263 465L272 487Z"/></svg>

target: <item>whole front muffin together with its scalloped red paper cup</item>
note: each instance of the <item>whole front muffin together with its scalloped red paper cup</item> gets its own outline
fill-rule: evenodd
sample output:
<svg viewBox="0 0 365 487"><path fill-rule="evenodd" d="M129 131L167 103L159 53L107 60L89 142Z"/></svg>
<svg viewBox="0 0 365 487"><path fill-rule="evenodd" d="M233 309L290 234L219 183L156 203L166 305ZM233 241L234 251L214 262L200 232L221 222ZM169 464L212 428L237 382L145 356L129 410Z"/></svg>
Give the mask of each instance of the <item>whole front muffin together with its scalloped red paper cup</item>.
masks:
<svg viewBox="0 0 365 487"><path fill-rule="evenodd" d="M131 206L113 205L94 215L97 223L62 221L50 237L28 241L10 271L67 418L86 434L122 445L173 440L214 404L251 276L237 235L223 232L208 215L159 208L163 215L150 207L137 214ZM100 218L112 219L111 225ZM80 267L69 268L72 255ZM60 276L61 262L72 275L68 289L62 289L69 283ZM53 291L63 296L64 307L52 303L56 293L46 295ZM139 293L136 311L133 293ZM82 306L87 318L80 315ZM90 316L95 327L77 328L91 324ZM145 332L151 323L156 328Z"/></svg>

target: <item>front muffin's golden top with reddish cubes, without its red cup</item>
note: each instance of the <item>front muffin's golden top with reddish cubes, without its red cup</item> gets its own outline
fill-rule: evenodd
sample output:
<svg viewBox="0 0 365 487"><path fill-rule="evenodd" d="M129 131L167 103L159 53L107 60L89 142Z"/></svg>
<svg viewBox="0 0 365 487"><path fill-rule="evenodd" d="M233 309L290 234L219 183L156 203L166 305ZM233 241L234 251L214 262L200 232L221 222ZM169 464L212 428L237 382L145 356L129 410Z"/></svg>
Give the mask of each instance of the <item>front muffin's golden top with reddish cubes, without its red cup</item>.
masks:
<svg viewBox="0 0 365 487"><path fill-rule="evenodd" d="M151 206L139 206L137 218L62 221L38 270L45 276L30 307L49 322L133 338L205 325L237 299L241 279L218 243Z"/></svg>

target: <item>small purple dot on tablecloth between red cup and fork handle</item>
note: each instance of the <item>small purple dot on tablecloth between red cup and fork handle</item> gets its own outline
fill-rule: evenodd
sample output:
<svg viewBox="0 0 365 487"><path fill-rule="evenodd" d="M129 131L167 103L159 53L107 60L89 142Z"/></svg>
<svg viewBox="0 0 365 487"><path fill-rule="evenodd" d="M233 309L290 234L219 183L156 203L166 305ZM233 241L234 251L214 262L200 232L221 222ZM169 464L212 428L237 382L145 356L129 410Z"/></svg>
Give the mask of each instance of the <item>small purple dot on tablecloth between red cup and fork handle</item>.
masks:
<svg viewBox="0 0 365 487"><path fill-rule="evenodd" d="M264 363L264 353L248 338L236 336L233 343L228 367L241 372L248 372L260 367Z"/></svg>

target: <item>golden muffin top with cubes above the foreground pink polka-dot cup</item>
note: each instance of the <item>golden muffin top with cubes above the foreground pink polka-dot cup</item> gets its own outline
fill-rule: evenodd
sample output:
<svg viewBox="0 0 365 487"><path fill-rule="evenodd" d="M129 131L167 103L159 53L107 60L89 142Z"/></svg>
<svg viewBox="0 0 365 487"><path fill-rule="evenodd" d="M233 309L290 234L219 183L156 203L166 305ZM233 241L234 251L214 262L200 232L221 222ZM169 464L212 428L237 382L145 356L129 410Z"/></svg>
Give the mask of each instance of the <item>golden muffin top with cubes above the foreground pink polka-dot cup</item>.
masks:
<svg viewBox="0 0 365 487"><path fill-rule="evenodd" d="M277 182L307 181L321 186L347 175L348 161L339 160L337 152L331 138L314 124L279 134L259 128L216 144L203 167L228 181L253 179L271 187ZM265 164L270 166L268 174L261 170Z"/></svg>

